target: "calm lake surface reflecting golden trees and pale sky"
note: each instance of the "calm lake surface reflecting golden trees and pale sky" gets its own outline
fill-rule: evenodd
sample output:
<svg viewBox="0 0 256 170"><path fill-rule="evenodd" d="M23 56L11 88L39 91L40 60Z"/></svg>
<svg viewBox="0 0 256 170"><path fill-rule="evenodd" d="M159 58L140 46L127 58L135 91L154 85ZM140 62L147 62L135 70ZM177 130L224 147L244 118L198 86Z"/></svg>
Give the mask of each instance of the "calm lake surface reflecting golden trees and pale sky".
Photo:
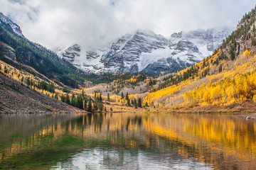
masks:
<svg viewBox="0 0 256 170"><path fill-rule="evenodd" d="M0 115L0 169L256 169L231 114Z"/></svg>

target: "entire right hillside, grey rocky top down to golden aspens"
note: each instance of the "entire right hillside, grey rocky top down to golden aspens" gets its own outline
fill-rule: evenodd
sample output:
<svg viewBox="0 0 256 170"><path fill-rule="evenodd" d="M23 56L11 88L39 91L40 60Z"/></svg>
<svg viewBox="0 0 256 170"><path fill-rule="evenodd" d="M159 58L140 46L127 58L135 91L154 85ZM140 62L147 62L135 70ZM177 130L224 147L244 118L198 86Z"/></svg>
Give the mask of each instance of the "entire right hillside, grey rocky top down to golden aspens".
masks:
<svg viewBox="0 0 256 170"><path fill-rule="evenodd" d="M256 9L256 8L255 8ZM165 77L158 91L148 94L149 106L230 106L256 101L255 9L210 57ZM167 86L164 89L164 86ZM174 107L173 107L174 108Z"/></svg>

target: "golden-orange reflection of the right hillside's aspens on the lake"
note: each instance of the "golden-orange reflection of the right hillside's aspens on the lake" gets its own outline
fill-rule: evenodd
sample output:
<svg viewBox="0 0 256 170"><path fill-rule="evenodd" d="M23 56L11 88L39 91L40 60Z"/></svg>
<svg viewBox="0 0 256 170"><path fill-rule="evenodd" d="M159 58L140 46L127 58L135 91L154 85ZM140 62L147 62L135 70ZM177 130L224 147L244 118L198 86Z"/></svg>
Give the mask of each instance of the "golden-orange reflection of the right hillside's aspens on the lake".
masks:
<svg viewBox="0 0 256 170"><path fill-rule="evenodd" d="M183 147L188 146L193 148L193 154L198 155L201 162L218 164L216 160L223 154L225 157L221 162L247 162L244 166L250 167L256 158L256 123L228 115L220 116L160 114L144 120L144 125L150 132L171 142L181 142L183 145L178 147L178 152L182 155L187 156L191 152ZM220 169L220 166L216 168Z"/></svg>

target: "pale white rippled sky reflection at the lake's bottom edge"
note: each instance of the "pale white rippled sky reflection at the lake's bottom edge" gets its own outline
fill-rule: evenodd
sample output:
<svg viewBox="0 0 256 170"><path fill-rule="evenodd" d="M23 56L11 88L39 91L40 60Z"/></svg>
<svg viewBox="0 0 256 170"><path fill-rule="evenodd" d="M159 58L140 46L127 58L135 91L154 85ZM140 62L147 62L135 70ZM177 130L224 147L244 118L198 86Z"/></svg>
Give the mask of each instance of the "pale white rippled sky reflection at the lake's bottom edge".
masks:
<svg viewBox="0 0 256 170"><path fill-rule="evenodd" d="M193 159L185 159L171 153L120 151L117 149L85 149L73 155L65 163L58 163L51 169L212 169Z"/></svg>

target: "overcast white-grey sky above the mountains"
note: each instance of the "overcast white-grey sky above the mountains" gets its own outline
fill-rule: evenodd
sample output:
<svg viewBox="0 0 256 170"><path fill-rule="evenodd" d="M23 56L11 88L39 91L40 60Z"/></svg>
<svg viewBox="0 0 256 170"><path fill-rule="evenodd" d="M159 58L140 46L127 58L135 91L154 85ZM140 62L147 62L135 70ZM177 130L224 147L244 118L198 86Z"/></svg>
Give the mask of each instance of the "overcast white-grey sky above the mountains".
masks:
<svg viewBox="0 0 256 170"><path fill-rule="evenodd" d="M33 42L83 47L134 30L171 33L198 28L235 29L255 0L0 0L0 11Z"/></svg>

